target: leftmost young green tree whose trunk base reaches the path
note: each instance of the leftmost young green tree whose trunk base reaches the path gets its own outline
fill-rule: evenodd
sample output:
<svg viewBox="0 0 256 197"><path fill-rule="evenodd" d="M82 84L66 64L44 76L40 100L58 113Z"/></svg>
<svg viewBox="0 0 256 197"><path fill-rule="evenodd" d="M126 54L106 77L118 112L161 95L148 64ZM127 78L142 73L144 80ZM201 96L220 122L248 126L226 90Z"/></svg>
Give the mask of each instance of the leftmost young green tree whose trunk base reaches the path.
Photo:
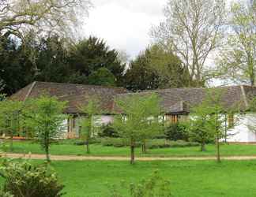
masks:
<svg viewBox="0 0 256 197"><path fill-rule="evenodd" d="M66 102L46 95L26 103L25 125L34 130L45 151L47 162L50 162L49 148L53 139L61 136L63 121L66 119L63 114L65 107Z"/></svg>

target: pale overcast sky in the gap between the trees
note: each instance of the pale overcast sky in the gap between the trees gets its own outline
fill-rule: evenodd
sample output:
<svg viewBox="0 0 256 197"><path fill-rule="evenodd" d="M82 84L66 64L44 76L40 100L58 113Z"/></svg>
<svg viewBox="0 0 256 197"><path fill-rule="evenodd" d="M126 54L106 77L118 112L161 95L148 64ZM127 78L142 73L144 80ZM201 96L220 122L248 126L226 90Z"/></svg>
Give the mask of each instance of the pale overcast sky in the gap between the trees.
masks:
<svg viewBox="0 0 256 197"><path fill-rule="evenodd" d="M167 0L92 0L86 35L96 35L134 58L151 42L149 30L164 19Z"/></svg>

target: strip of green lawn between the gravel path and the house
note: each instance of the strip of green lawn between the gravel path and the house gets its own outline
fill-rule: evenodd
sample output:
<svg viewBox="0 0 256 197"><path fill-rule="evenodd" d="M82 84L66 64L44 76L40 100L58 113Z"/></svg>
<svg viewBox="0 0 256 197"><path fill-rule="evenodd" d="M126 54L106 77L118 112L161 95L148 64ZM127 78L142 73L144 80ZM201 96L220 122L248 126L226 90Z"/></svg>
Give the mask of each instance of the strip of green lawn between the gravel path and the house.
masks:
<svg viewBox="0 0 256 197"><path fill-rule="evenodd" d="M32 154L43 154L38 143L16 141L13 143L15 153L28 153ZM162 148L149 150L148 154L141 154L141 149L136 150L138 156L160 156L160 157L171 157L171 156L210 156L215 154L215 146L206 146L207 151L199 151L199 147L175 147L175 148ZM50 148L51 154L72 154L72 155L86 155L85 146L77 146L72 143L66 144L53 144ZM129 147L103 147L100 144L91 145L91 155L99 156L128 156L130 153ZM256 155L255 145L222 145L220 147L221 155Z"/></svg>

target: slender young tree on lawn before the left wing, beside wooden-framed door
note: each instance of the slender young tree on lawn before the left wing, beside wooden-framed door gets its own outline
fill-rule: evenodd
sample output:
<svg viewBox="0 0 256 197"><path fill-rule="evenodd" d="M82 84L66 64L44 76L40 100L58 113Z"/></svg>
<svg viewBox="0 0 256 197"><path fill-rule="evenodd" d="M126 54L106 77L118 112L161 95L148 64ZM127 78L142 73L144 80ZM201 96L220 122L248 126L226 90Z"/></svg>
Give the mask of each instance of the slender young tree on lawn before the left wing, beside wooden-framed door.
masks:
<svg viewBox="0 0 256 197"><path fill-rule="evenodd" d="M89 99L87 105L81 106L82 113L85 113L84 118L81 119L81 137L85 139L86 152L90 153L90 139L93 136L93 131L97 126L97 121L100 114L100 102L98 99ZM98 127L100 128L100 127Z"/></svg>

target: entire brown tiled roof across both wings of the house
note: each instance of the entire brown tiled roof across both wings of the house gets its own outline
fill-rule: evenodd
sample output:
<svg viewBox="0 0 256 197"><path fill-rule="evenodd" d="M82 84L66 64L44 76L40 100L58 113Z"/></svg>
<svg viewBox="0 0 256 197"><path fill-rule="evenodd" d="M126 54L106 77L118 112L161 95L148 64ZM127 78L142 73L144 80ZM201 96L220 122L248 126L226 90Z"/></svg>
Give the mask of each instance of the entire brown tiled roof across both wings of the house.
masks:
<svg viewBox="0 0 256 197"><path fill-rule="evenodd" d="M247 110L251 96L256 96L256 87L229 86L216 87L223 91L222 104L228 108L239 106L239 110ZM129 93L122 87L102 87L80 84L60 84L48 82L33 82L17 91L11 99L24 101L47 94L67 101L66 113L80 113L79 106L85 105L88 98L96 97L102 103L105 113L113 113L114 99L128 95L148 95L155 92L160 96L161 106L165 113L189 113L191 106L196 106L205 98L207 88L171 88L156 91Z"/></svg>

